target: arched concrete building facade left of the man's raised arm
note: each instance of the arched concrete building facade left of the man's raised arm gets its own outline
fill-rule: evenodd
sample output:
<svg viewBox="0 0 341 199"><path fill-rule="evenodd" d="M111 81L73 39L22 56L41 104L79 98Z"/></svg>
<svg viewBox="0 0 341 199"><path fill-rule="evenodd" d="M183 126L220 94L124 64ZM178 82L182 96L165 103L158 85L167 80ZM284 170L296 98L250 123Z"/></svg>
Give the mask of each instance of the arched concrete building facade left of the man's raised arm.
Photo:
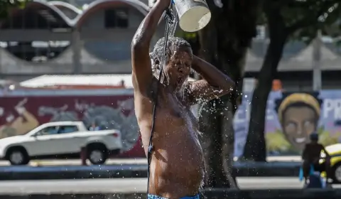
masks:
<svg viewBox="0 0 341 199"><path fill-rule="evenodd" d="M84 10L31 1L0 22L1 77L130 73L131 39L148 10L134 0L97 0ZM163 30L161 23L153 43Z"/></svg>

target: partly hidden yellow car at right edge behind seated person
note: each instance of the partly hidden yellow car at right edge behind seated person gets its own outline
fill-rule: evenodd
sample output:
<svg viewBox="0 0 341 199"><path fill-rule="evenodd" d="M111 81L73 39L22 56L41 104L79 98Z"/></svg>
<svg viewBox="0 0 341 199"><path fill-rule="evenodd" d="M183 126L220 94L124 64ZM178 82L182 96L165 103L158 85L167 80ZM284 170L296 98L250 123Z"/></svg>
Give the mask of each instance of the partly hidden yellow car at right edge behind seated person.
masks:
<svg viewBox="0 0 341 199"><path fill-rule="evenodd" d="M326 146L325 150L330 154L330 166L332 167L333 172L333 183L341 183L341 144L332 144L330 146ZM320 163L323 163L323 158L325 158L325 153L321 153L322 159L320 159ZM321 175L325 177L326 173L323 172Z"/></svg>

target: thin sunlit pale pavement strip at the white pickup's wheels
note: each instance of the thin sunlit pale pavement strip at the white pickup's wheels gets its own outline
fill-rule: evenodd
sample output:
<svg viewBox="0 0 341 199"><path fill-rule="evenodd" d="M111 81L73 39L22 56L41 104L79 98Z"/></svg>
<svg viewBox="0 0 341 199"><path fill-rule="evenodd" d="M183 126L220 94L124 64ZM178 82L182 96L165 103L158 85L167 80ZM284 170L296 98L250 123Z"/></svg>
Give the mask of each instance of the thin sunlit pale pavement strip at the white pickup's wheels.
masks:
<svg viewBox="0 0 341 199"><path fill-rule="evenodd" d="M301 156L269 156L269 162L298 162ZM123 165L123 164L146 164L146 158L112 158L107 161L107 165ZM29 166L77 166L81 164L80 159L61 159L61 160L33 160ZM90 162L87 161L87 165ZM0 166L10 166L9 161L0 161Z"/></svg>

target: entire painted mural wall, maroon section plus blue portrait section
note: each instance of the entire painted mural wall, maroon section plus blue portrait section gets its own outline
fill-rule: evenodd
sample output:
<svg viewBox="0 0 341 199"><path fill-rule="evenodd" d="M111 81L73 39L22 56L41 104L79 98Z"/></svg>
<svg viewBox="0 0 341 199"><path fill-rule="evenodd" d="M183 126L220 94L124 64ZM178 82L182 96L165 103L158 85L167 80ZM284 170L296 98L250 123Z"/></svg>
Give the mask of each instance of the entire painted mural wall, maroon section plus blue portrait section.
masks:
<svg viewBox="0 0 341 199"><path fill-rule="evenodd" d="M251 93L244 93L234 117L235 156L247 137ZM134 101L126 95L48 95L0 97L0 138L26 134L45 122L83 121L122 133L122 156L144 157ZM266 144L271 155L301 153L309 134L317 131L325 145L341 142L341 90L317 93L271 92L266 109Z"/></svg>

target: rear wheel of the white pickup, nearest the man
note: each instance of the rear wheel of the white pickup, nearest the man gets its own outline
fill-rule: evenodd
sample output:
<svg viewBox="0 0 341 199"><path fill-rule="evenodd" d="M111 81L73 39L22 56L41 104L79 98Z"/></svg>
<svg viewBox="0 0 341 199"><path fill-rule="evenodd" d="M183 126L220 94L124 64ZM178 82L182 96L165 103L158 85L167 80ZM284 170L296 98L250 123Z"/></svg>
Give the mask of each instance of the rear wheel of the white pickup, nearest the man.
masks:
<svg viewBox="0 0 341 199"><path fill-rule="evenodd" d="M104 164L108 158L108 150L104 144L90 144L87 146L87 158L92 164Z"/></svg>

